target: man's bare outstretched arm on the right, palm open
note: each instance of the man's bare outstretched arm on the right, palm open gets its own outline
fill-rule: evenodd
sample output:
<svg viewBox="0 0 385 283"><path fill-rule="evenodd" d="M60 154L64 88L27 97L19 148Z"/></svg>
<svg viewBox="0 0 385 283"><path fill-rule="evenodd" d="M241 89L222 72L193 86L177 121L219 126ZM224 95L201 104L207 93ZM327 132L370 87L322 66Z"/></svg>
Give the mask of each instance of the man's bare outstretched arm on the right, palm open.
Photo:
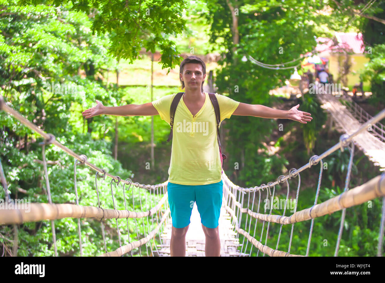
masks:
<svg viewBox="0 0 385 283"><path fill-rule="evenodd" d="M237 109L235 109L233 115L239 116L254 116L261 118L280 118L280 119L291 119L293 121L307 124L306 121L311 121L313 117L308 112L299 111L297 104L290 110L279 110L273 109L260 104L247 104L240 102Z"/></svg>

